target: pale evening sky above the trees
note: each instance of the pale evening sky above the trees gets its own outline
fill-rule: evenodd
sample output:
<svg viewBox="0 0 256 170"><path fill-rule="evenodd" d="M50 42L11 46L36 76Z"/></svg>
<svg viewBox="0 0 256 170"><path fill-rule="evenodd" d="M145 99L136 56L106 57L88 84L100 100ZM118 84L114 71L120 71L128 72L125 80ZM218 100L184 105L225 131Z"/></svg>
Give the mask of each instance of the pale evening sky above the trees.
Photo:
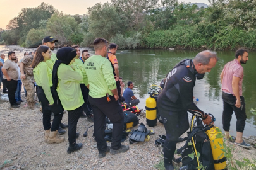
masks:
<svg viewBox="0 0 256 170"><path fill-rule="evenodd" d="M22 8L33 8L39 6L42 2L51 4L59 11L65 14L87 14L87 8L96 3L103 3L110 0L0 0L0 28L6 29L9 20L18 16ZM180 1L180 0L179 0ZM182 2L205 3L208 0L181 0ZM181 2L180 1L180 2Z"/></svg>

